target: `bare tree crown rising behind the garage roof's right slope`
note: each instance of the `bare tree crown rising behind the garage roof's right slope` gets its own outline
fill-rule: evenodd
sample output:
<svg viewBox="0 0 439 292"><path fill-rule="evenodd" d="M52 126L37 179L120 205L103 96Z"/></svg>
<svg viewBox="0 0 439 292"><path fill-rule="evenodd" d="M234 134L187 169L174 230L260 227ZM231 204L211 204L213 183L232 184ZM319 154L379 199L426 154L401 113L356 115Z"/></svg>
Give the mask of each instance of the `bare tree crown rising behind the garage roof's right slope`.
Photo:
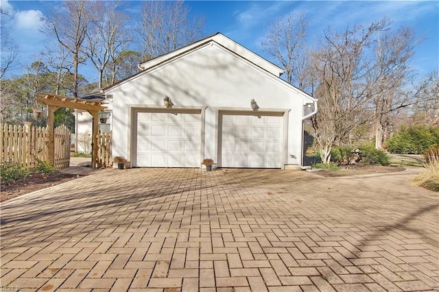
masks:
<svg viewBox="0 0 439 292"><path fill-rule="evenodd" d="M285 80L300 89L305 88L307 80L304 43L307 27L305 14L292 12L283 19L277 19L261 40L263 50L285 69Z"/></svg>

